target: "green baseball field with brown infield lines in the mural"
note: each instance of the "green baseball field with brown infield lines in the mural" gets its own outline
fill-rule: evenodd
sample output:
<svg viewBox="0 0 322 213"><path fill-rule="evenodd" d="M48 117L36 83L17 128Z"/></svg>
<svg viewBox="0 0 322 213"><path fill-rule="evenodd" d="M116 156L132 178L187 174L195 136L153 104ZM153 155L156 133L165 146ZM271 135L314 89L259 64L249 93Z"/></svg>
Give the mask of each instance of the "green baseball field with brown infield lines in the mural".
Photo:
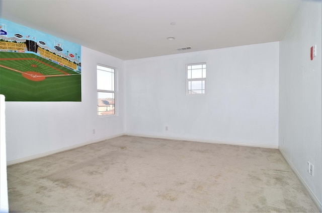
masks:
<svg viewBox="0 0 322 213"><path fill-rule="evenodd" d="M82 101L81 74L32 53L0 52L6 101Z"/></svg>

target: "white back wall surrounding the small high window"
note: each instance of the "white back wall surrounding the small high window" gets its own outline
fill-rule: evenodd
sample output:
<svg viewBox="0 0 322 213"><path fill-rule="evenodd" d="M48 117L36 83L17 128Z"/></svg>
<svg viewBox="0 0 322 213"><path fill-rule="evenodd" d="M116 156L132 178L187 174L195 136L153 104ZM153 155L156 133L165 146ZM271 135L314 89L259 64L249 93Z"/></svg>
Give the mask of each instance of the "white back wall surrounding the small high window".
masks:
<svg viewBox="0 0 322 213"><path fill-rule="evenodd" d="M197 62L207 62L206 95L187 96L185 64ZM278 42L127 60L125 70L128 134L278 145Z"/></svg>

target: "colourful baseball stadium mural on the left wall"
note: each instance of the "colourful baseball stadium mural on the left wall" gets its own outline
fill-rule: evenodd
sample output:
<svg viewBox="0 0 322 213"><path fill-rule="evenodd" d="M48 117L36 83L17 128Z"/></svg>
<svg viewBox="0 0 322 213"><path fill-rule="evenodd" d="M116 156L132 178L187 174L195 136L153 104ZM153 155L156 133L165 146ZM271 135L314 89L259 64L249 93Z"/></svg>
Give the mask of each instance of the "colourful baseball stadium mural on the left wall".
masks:
<svg viewBox="0 0 322 213"><path fill-rule="evenodd" d="M0 19L0 94L6 101L82 101L81 46Z"/></svg>

